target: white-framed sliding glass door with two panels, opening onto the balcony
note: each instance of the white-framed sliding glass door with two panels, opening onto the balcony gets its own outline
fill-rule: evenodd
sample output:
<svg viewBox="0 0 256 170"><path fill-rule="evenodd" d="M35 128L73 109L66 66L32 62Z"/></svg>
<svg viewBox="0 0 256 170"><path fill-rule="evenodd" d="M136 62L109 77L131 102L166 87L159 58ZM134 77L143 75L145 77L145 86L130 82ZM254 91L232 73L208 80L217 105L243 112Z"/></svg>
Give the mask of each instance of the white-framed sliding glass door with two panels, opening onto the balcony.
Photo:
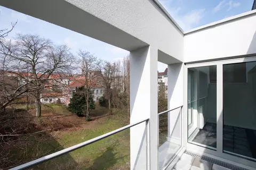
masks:
<svg viewBox="0 0 256 170"><path fill-rule="evenodd" d="M188 149L256 162L256 57L187 68Z"/></svg>

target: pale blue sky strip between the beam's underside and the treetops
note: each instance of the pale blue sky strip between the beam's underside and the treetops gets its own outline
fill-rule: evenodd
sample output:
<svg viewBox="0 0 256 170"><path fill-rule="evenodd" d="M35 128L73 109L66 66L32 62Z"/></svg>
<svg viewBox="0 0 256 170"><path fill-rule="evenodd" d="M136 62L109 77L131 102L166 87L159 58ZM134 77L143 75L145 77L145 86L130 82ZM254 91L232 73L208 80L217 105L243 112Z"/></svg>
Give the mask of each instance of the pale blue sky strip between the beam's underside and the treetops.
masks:
<svg viewBox="0 0 256 170"><path fill-rule="evenodd" d="M110 62L129 55L129 52L124 49L0 6L0 29L11 28L11 22L14 23L17 20L17 25L8 37L10 39L15 37L16 33L37 34L51 39L55 44L68 45L74 54L77 53L78 49L83 49Z"/></svg>

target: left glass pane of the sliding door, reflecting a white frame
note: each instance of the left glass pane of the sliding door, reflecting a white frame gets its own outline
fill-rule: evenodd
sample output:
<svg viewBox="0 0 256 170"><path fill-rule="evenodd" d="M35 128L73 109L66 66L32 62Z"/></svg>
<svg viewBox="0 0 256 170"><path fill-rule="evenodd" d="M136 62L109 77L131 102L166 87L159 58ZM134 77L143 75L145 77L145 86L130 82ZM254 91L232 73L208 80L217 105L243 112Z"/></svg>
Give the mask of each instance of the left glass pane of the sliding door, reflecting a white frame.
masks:
<svg viewBox="0 0 256 170"><path fill-rule="evenodd" d="M217 66L188 69L188 142L217 146Z"/></svg>

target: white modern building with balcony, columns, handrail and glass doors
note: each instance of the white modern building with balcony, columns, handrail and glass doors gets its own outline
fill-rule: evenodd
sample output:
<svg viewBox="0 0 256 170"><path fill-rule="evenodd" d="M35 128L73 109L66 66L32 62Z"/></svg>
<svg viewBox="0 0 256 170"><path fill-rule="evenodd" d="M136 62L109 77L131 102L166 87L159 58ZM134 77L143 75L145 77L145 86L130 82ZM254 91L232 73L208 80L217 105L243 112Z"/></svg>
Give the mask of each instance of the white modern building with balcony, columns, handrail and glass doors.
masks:
<svg viewBox="0 0 256 170"><path fill-rule="evenodd" d="M16 169L128 128L131 169L185 169L184 155L215 167L256 168L255 10L184 32L156 0L0 5L130 51L130 125ZM158 61L168 65L168 110L159 114ZM166 134L159 129L164 114Z"/></svg>

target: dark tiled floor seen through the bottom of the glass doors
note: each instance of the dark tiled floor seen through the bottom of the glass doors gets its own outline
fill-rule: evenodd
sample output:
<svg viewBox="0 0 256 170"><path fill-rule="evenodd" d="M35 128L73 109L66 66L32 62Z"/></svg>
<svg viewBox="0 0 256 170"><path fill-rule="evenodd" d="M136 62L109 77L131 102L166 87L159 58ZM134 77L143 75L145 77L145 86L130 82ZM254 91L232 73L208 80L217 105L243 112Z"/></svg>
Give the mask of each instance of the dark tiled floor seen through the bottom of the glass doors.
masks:
<svg viewBox="0 0 256 170"><path fill-rule="evenodd" d="M216 139L216 124L206 123L204 128L199 130L193 142L216 148ZM256 158L255 141L255 130L223 126L223 150L225 151Z"/></svg>

